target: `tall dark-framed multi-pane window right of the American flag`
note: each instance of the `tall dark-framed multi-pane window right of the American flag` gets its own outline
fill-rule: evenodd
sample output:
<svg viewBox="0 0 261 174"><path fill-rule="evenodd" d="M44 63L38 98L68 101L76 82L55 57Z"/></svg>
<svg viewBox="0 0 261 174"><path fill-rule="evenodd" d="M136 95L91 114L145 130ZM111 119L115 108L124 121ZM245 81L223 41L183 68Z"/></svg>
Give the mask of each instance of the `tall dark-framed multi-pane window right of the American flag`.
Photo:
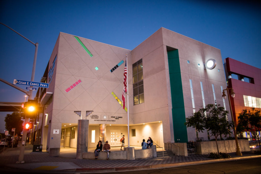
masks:
<svg viewBox="0 0 261 174"><path fill-rule="evenodd" d="M132 64L133 72L133 100L134 105L144 103L144 89L143 89L143 65L142 59Z"/></svg>

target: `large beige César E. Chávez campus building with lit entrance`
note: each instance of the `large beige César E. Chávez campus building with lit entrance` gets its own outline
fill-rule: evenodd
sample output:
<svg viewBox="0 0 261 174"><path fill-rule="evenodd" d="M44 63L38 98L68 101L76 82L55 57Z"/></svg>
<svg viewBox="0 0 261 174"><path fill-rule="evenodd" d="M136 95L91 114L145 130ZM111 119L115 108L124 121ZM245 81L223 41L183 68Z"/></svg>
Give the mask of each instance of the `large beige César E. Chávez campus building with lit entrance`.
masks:
<svg viewBox="0 0 261 174"><path fill-rule="evenodd" d="M129 140L121 99L126 54ZM140 146L150 136L163 147L212 139L186 128L186 117L206 104L229 108L222 98L227 85L220 50L165 28L133 50L61 32L41 82L49 88L39 88L36 96L43 106L39 134L52 154L76 147L78 119L89 119L88 147L99 139L120 146L122 135L125 144Z"/></svg>

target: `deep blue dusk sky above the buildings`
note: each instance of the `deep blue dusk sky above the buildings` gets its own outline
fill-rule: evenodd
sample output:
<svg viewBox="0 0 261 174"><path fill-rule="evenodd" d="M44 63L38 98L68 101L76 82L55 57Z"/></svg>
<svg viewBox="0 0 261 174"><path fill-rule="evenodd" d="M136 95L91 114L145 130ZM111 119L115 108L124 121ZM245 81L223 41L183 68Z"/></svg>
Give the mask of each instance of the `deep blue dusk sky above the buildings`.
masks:
<svg viewBox="0 0 261 174"><path fill-rule="evenodd" d="M39 82L59 32L132 50L164 27L220 49L222 59L261 68L260 9L256 1L2 0L0 22L39 43L34 77ZM0 25L0 78L30 81L34 51L33 44ZM0 101L24 102L24 96L0 81ZM2 133L6 114L0 112Z"/></svg>

